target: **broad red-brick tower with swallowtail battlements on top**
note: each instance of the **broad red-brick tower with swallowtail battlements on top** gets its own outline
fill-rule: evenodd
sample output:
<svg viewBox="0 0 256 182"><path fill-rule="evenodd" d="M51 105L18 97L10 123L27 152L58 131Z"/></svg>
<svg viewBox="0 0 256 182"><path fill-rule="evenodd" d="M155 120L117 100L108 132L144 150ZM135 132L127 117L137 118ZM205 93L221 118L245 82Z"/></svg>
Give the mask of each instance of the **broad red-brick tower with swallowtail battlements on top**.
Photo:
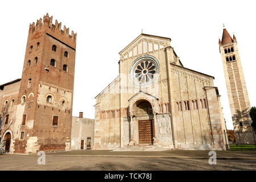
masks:
<svg viewBox="0 0 256 182"><path fill-rule="evenodd" d="M70 149L75 50L76 34L52 16L30 24L19 90L24 139L15 151Z"/></svg>

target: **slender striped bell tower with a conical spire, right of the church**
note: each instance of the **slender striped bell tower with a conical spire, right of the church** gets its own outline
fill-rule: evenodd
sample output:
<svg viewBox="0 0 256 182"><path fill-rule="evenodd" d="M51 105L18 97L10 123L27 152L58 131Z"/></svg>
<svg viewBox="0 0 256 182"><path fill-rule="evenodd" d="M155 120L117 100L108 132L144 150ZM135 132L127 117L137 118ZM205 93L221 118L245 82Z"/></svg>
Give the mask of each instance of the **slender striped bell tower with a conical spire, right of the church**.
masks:
<svg viewBox="0 0 256 182"><path fill-rule="evenodd" d="M219 46L234 131L251 131L249 115L251 106L239 57L237 39L235 35L231 38L225 27L222 40L219 39Z"/></svg>

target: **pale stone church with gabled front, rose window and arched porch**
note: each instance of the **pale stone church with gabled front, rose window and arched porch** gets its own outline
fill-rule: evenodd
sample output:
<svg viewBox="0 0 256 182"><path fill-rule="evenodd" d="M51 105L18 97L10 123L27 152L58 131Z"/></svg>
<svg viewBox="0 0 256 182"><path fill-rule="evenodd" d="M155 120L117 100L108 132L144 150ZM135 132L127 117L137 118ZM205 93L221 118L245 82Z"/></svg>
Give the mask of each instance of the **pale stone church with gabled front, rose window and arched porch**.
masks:
<svg viewBox="0 0 256 182"><path fill-rule="evenodd" d="M226 150L214 77L185 68L170 38L140 34L96 97L95 150Z"/></svg>

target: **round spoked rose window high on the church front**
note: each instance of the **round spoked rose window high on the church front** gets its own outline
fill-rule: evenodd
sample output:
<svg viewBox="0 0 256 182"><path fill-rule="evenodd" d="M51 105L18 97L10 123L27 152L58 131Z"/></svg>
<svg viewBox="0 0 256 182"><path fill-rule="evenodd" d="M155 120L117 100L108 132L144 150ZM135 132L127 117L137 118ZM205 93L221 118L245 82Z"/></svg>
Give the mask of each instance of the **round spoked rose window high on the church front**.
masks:
<svg viewBox="0 0 256 182"><path fill-rule="evenodd" d="M135 67L135 78L140 83L149 82L154 78L156 65L149 60L141 61Z"/></svg>

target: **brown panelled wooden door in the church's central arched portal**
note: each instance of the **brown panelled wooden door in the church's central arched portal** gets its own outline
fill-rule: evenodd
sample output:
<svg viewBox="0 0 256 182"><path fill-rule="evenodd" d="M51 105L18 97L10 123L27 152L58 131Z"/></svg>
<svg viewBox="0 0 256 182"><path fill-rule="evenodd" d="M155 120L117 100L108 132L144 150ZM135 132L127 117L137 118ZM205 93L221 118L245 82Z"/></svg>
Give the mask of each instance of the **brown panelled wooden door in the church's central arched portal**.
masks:
<svg viewBox="0 0 256 182"><path fill-rule="evenodd" d="M143 120L139 122L139 143L149 144L153 143L155 137L154 120Z"/></svg>

